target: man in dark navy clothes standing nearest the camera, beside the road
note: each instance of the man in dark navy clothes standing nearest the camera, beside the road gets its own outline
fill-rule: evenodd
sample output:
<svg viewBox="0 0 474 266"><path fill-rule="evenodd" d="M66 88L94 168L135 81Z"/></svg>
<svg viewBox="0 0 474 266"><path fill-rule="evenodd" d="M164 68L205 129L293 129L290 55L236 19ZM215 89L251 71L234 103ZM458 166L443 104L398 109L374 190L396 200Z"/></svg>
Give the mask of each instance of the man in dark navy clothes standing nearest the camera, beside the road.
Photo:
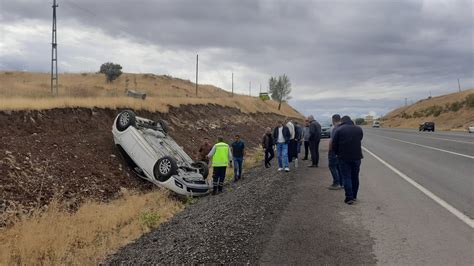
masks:
<svg viewBox="0 0 474 266"><path fill-rule="evenodd" d="M351 205L357 200L359 191L359 171L362 156L362 128L356 126L349 116L341 118L341 124L332 137L332 150L337 156L340 174L344 180L346 198Z"/></svg>

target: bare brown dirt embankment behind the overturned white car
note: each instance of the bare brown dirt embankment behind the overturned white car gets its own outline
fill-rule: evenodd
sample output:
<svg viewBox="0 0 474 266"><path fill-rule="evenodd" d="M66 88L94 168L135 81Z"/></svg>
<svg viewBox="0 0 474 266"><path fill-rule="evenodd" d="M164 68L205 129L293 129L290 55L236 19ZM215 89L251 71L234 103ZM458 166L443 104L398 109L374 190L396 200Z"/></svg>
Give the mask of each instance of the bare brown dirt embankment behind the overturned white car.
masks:
<svg viewBox="0 0 474 266"><path fill-rule="evenodd" d="M260 142L267 126L283 117L246 114L217 105L185 105L168 113L136 111L169 122L171 136L193 155L203 137L239 133L249 147ZM114 147L112 123L118 110L52 109L0 112L0 227L18 211L47 208L56 198L75 210L85 200L108 201L121 188L148 191L133 176Z"/></svg>

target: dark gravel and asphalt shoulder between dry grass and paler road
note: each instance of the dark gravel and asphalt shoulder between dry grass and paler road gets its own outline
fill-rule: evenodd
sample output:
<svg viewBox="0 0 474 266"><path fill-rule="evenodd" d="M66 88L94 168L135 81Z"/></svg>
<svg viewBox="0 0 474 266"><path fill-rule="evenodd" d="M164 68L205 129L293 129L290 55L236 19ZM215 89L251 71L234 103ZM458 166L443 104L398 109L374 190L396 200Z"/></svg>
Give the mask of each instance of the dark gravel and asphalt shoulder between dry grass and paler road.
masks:
<svg viewBox="0 0 474 266"><path fill-rule="evenodd" d="M342 190L326 188L324 157L318 169L307 163L290 173L251 169L242 182L199 199L106 264L375 264L374 240L347 220L358 217L357 206L343 203Z"/></svg>

